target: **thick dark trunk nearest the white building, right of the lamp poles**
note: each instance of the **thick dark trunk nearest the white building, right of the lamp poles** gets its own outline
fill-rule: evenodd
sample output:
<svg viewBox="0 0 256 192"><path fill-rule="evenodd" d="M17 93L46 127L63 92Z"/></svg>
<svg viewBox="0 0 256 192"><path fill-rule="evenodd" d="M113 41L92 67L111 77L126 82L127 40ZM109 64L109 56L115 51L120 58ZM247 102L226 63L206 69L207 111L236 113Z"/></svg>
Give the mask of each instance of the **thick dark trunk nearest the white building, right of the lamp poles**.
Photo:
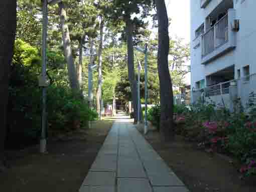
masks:
<svg viewBox="0 0 256 192"><path fill-rule="evenodd" d="M160 131L162 136L167 139L174 137L173 124L173 89L172 80L169 72L168 55L170 48L170 38L168 31L168 16L164 0L156 1L158 18L158 73L160 81L160 102L161 102L161 121Z"/></svg>

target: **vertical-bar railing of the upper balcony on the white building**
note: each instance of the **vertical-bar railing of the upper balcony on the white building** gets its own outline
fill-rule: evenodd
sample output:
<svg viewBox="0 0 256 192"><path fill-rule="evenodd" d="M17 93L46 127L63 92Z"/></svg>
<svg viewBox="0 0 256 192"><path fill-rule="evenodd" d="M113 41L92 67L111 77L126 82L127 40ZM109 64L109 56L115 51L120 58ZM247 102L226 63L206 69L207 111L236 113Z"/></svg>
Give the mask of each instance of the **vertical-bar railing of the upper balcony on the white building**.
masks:
<svg viewBox="0 0 256 192"><path fill-rule="evenodd" d="M202 35L202 57L228 41L228 14Z"/></svg>

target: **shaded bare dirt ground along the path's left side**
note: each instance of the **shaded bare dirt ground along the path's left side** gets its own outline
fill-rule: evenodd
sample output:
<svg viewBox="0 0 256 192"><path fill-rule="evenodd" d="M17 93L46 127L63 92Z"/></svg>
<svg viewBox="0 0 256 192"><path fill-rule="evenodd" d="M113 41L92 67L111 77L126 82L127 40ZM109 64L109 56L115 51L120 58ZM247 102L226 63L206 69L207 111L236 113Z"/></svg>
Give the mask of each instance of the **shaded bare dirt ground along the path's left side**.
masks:
<svg viewBox="0 0 256 192"><path fill-rule="evenodd" d="M48 154L35 147L9 151L12 168L0 173L0 191L78 191L112 125L97 121L91 129L80 129L50 141Z"/></svg>

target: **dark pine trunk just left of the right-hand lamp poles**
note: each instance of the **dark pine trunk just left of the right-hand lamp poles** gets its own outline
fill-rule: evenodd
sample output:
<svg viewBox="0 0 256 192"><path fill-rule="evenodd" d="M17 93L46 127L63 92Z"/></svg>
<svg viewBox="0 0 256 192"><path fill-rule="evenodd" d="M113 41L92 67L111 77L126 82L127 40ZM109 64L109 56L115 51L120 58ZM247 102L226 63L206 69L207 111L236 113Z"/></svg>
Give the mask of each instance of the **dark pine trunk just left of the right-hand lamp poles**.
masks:
<svg viewBox="0 0 256 192"><path fill-rule="evenodd" d="M128 77L132 91L133 107L134 107L134 123L138 121L138 101L137 101L137 81L134 72L134 44L133 44L133 23L131 20L126 20L126 38L127 38L127 64Z"/></svg>

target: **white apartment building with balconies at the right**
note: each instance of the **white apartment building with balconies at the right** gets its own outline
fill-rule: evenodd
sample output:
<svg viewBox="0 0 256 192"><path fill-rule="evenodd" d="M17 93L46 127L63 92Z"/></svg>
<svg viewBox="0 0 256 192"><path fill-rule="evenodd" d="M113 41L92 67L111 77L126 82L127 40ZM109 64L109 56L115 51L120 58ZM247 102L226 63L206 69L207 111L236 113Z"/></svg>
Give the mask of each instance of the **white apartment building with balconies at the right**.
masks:
<svg viewBox="0 0 256 192"><path fill-rule="evenodd" d="M236 85L245 105L256 93L256 0L190 2L191 101L204 96L229 107Z"/></svg>

